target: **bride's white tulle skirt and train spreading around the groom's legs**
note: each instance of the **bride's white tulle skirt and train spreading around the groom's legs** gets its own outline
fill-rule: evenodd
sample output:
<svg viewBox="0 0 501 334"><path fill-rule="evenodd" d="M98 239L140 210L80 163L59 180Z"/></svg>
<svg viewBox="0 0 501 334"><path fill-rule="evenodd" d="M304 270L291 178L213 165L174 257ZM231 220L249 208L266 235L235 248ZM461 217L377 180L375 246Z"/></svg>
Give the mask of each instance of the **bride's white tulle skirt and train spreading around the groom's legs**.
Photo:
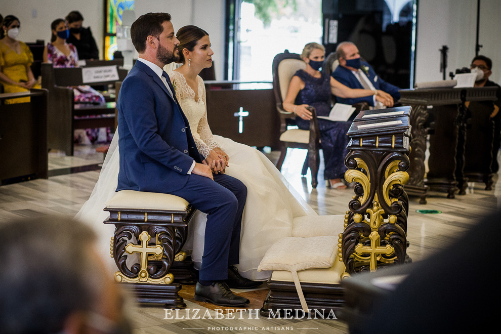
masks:
<svg viewBox="0 0 501 334"><path fill-rule="evenodd" d="M271 272L258 272L257 268L267 249L278 239L290 237L293 219L317 215L301 195L285 180L275 165L260 151L214 136L229 156L226 174L247 186L247 201L243 212L240 235L240 264L242 276L252 280L266 280ZM119 169L118 135L115 134L106 156L99 180L89 200L81 207L76 219L90 224L98 233L99 253L108 260L110 271L117 270L110 257L110 238L113 225L103 224L108 213L105 203L114 195ZM184 250L191 254L195 268L200 268L203 254L206 214L196 212L188 226L188 239Z"/></svg>

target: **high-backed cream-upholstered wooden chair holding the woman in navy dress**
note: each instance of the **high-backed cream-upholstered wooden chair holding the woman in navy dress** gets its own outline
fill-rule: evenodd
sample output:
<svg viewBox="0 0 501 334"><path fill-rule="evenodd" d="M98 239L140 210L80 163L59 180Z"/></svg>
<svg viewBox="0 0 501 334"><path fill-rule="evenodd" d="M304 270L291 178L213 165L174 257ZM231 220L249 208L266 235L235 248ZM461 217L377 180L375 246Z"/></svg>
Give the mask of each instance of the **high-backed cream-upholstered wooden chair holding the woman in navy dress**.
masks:
<svg viewBox="0 0 501 334"><path fill-rule="evenodd" d="M302 148L308 150L306 164L311 171L311 186L317 187L318 166L320 164L320 131L318 129L317 116L314 108L309 108L313 114L310 121L309 130L288 129L288 126L295 125L296 115L283 109L283 100L287 95L290 80L297 70L305 69L306 64L296 53L289 53L287 50L280 53L273 59L273 91L275 93L276 107L280 117L280 157L277 168L281 170L283 160L287 154L287 148ZM305 173L303 168L303 174Z"/></svg>

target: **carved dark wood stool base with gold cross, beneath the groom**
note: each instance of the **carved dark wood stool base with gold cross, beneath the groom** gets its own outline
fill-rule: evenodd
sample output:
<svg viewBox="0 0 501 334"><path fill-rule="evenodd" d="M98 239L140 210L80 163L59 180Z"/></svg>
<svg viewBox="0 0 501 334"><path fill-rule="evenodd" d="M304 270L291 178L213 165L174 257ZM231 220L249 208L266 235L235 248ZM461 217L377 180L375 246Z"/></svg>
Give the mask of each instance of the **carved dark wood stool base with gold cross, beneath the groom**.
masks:
<svg viewBox="0 0 501 334"><path fill-rule="evenodd" d="M191 261L180 266L173 264L186 258L181 248L195 209L188 205L182 212L110 207L105 210L110 217L104 223L115 225L110 247L119 270L114 275L115 281L133 290L140 303L186 307L178 295L181 285L174 281L196 279L193 264Z"/></svg>

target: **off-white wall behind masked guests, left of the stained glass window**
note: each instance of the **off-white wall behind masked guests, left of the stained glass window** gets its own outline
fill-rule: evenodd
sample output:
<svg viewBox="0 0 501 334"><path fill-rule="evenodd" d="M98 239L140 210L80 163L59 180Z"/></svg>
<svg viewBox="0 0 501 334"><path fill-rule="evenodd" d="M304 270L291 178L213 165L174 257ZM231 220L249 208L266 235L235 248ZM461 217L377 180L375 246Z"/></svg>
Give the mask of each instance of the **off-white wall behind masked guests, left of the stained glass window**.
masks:
<svg viewBox="0 0 501 334"><path fill-rule="evenodd" d="M51 39L51 22L63 18L71 11L79 11L84 16L84 26L91 27L96 39L99 56L103 58L103 0L0 0L0 13L5 17L12 14L21 21L19 39L34 42Z"/></svg>

